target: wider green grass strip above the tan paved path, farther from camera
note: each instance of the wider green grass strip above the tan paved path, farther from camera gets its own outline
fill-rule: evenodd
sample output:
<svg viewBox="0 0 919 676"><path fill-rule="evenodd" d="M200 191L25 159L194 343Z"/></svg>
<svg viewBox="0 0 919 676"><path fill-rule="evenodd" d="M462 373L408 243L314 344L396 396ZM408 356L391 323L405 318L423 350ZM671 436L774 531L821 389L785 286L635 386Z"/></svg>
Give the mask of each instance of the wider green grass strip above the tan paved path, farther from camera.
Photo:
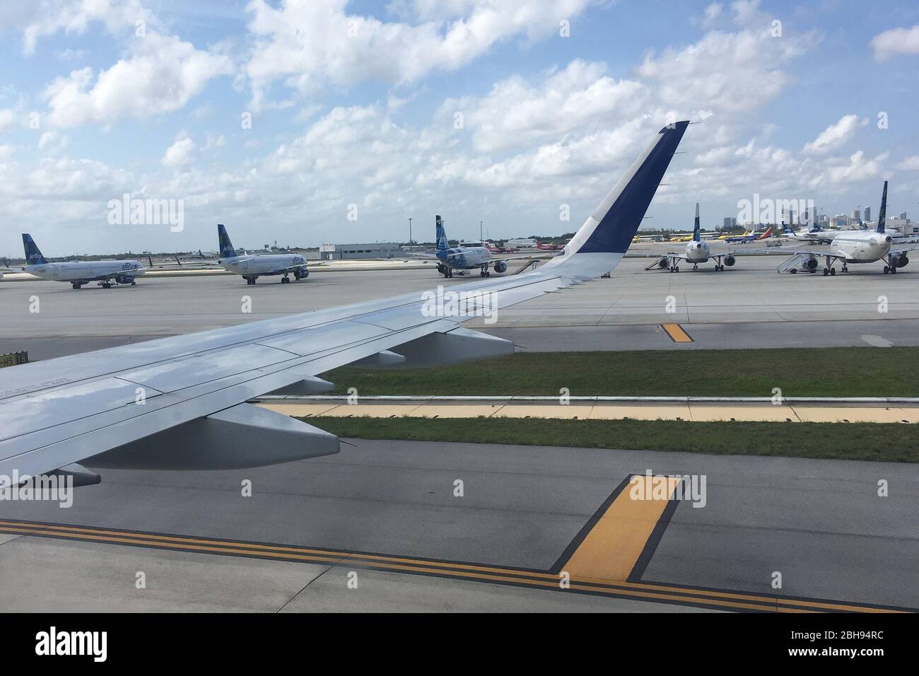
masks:
<svg viewBox="0 0 919 676"><path fill-rule="evenodd" d="M919 396L919 348L517 352L455 366L323 374L360 395Z"/></svg>

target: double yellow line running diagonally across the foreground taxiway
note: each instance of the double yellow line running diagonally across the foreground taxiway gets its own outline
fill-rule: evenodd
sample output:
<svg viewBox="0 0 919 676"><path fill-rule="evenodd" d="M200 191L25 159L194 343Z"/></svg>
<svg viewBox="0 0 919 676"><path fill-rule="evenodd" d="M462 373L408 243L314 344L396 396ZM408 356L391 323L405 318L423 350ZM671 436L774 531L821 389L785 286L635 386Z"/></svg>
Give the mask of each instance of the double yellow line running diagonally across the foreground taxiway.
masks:
<svg viewBox="0 0 919 676"><path fill-rule="evenodd" d="M246 556L284 561L370 568L388 572L426 575L448 579L559 590L607 596L618 599L670 602L719 610L766 611L782 613L853 612L883 613L899 609L867 606L856 603L810 601L776 598L752 593L726 590L705 590L660 583L590 579L572 575L567 586L561 572L527 568L481 566L457 561L428 560L405 556L365 554L319 547L236 542L214 538L199 538L165 533L135 533L88 526L70 526L40 521L0 521L0 533L27 536L121 544L181 552L197 552L221 556Z"/></svg>

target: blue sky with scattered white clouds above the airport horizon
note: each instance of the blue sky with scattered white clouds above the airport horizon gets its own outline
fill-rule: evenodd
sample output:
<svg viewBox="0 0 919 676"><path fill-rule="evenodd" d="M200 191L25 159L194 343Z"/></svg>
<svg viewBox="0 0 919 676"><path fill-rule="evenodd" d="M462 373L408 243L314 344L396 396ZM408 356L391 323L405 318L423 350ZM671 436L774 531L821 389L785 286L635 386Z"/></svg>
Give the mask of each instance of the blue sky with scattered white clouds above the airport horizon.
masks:
<svg viewBox="0 0 919 676"><path fill-rule="evenodd" d="M668 120L652 225L739 200L919 216L919 6L36 0L0 6L0 254L571 232ZM181 200L184 227L109 223ZM571 221L560 220L569 205Z"/></svg>

